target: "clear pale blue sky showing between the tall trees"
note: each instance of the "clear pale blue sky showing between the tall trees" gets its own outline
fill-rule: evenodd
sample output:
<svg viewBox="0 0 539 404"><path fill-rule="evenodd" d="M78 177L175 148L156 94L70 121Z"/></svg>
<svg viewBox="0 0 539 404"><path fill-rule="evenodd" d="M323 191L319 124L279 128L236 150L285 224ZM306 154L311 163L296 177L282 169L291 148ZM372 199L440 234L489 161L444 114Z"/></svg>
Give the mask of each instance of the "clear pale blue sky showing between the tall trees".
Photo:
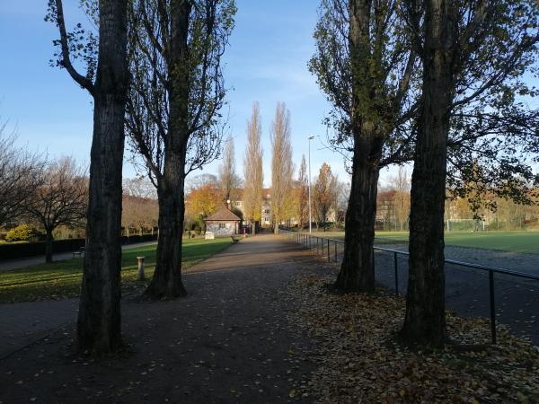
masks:
<svg viewBox="0 0 539 404"><path fill-rule="evenodd" d="M78 0L64 0L68 25L81 21ZM264 182L270 185L270 122L278 101L291 112L294 159L307 154L306 137L325 138L322 125L330 110L307 61L314 50L312 33L318 2L314 0L237 0L236 28L225 54L231 132L236 165L243 174L245 126L252 101L261 105ZM92 140L92 103L66 71L49 66L55 27L43 21L47 0L2 0L0 5L0 119L17 127L19 142L52 157L72 155L88 162ZM84 19L83 19L84 21ZM347 177L340 154L312 147L313 175L329 162L342 180ZM218 162L204 172L216 172ZM124 176L135 175L129 162Z"/></svg>

